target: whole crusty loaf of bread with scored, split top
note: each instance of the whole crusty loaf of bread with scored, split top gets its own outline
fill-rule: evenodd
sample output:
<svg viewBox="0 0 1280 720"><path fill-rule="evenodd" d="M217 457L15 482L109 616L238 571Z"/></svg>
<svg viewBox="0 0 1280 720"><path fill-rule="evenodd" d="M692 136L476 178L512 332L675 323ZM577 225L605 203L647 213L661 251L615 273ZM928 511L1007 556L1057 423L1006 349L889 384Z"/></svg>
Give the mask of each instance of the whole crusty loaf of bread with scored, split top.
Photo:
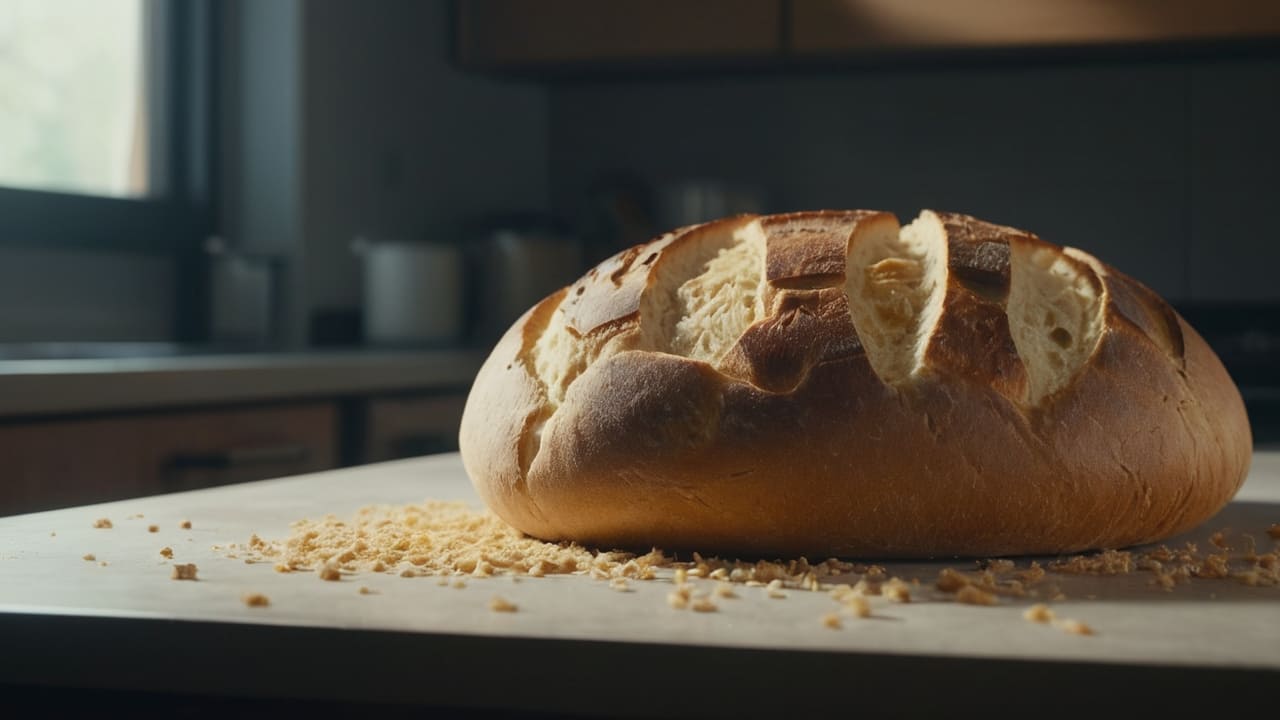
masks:
<svg viewBox="0 0 1280 720"><path fill-rule="evenodd" d="M1220 510L1217 356L1093 256L966 215L746 215L600 263L476 377L462 459L548 541L736 556L1057 553Z"/></svg>

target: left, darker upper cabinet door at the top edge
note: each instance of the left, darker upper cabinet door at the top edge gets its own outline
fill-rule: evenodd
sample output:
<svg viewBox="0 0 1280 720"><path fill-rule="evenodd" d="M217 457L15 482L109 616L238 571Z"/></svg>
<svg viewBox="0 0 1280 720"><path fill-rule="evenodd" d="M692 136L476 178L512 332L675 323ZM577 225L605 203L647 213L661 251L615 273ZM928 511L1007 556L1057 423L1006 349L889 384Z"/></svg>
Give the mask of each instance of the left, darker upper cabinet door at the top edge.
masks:
<svg viewBox="0 0 1280 720"><path fill-rule="evenodd" d="M781 0L460 0L457 58L522 68L781 53Z"/></svg>

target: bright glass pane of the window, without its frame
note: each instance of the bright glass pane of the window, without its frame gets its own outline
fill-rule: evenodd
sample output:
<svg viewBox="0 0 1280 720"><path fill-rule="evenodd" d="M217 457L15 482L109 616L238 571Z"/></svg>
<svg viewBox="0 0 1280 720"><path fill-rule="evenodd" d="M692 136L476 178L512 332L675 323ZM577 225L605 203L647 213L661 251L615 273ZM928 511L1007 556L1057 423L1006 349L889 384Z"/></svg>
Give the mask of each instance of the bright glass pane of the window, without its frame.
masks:
<svg viewBox="0 0 1280 720"><path fill-rule="evenodd" d="M0 186L143 197L142 0L6 0L0 13Z"/></svg>

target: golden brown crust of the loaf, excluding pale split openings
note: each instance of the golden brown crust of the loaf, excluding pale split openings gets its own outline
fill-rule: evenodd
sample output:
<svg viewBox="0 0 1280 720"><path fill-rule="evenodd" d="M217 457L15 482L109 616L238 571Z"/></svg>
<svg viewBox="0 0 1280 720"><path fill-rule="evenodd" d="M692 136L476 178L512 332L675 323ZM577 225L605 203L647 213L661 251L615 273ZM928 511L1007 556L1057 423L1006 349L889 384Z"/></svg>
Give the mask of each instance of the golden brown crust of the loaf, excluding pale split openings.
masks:
<svg viewBox="0 0 1280 720"><path fill-rule="evenodd" d="M1076 251L1105 299L1102 332L1065 388L1027 402L1004 311L1007 243L1043 241L1021 231L942 215L952 273L928 373L886 384L850 320L836 240L877 218L764 218L768 311L716 366L622 347L554 413L522 355L559 296L540 304L499 342L467 402L461 447L481 497L553 541L918 557L1151 542L1206 520L1243 483L1248 419L1212 350L1155 293ZM812 247L796 240L805 234ZM607 261L627 268L625 300L603 293L607 311L584 309L596 297L584 291L575 325L635 318L653 270L632 269L662 247ZM527 465L521 447L535 450Z"/></svg>

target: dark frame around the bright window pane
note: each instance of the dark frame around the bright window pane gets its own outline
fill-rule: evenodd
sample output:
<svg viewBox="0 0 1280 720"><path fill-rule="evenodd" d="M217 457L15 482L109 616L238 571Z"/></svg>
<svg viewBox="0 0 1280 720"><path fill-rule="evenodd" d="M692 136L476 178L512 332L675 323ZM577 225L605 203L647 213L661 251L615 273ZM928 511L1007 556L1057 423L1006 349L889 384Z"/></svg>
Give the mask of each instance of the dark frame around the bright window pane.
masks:
<svg viewBox="0 0 1280 720"><path fill-rule="evenodd" d="M216 31L212 0L146 0L156 195L106 197L0 187L0 247L191 254L215 232ZM159 99L159 100L157 100Z"/></svg>

